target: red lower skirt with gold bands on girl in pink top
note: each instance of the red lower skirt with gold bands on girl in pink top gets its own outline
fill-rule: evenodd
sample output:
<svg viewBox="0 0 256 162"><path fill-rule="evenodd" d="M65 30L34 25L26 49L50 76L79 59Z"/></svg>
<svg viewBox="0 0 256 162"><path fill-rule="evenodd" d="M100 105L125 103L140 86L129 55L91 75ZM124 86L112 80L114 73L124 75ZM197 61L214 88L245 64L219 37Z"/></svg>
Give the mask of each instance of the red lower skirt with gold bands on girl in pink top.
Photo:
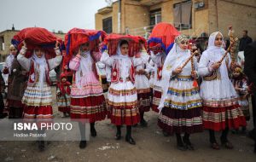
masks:
<svg viewBox="0 0 256 162"><path fill-rule="evenodd" d="M71 119L89 119L90 123L106 118L107 108L104 95L71 98Z"/></svg>

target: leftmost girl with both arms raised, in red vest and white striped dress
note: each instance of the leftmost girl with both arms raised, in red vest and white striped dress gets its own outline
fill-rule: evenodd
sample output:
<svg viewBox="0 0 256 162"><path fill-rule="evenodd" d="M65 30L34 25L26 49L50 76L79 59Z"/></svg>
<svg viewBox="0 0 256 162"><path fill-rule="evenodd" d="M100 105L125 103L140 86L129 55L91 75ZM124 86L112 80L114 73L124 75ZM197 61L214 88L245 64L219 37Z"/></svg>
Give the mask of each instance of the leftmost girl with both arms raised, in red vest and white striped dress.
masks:
<svg viewBox="0 0 256 162"><path fill-rule="evenodd" d="M27 59L25 57L25 41L23 44L17 59L20 65L26 69L26 72L29 72L27 87L22 98L24 119L53 119L49 71L61 63L62 55L58 47L59 43L56 42L55 44L55 58L49 60L45 59L44 49L39 47L35 47L32 58ZM43 151L44 137L39 139L38 144L38 148Z"/></svg>

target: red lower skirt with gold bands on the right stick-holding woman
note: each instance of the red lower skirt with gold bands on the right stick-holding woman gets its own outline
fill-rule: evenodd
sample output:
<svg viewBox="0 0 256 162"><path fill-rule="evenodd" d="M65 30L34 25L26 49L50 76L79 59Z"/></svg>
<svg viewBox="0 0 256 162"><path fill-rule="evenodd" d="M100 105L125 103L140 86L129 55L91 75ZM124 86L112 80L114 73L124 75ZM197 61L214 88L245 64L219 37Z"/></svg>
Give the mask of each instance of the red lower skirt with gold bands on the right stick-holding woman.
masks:
<svg viewBox="0 0 256 162"><path fill-rule="evenodd" d="M246 119L241 107L236 104L229 107L203 106L203 127L209 130L238 129L246 126Z"/></svg>

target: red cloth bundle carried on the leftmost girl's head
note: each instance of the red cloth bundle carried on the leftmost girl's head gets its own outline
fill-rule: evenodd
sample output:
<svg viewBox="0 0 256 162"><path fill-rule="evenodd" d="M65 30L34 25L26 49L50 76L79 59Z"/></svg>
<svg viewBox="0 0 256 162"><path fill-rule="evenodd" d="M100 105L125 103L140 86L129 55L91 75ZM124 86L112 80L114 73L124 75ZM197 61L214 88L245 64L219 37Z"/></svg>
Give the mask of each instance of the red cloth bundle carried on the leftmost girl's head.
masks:
<svg viewBox="0 0 256 162"><path fill-rule="evenodd" d="M46 59L55 57L55 43L58 40L62 43L61 38L57 38L54 33L41 27L27 27L18 32L13 40L18 45L18 49L23 46L23 41L26 41L26 57L31 57L33 49L43 49Z"/></svg>

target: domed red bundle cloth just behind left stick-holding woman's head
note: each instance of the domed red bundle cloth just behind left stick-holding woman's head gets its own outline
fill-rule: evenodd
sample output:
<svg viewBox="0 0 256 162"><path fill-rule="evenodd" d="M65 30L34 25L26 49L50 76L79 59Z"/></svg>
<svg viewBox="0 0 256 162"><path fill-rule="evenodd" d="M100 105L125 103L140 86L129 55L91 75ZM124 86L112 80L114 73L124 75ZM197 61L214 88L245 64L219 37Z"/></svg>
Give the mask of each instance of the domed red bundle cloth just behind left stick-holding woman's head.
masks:
<svg viewBox="0 0 256 162"><path fill-rule="evenodd" d="M166 22L160 22L159 24L154 26L150 34L149 40L151 38L160 38L167 49L174 42L175 37L177 37L178 35L180 35L180 32L178 32L174 26ZM159 43L155 42L151 42L148 45L148 48L159 47Z"/></svg>

